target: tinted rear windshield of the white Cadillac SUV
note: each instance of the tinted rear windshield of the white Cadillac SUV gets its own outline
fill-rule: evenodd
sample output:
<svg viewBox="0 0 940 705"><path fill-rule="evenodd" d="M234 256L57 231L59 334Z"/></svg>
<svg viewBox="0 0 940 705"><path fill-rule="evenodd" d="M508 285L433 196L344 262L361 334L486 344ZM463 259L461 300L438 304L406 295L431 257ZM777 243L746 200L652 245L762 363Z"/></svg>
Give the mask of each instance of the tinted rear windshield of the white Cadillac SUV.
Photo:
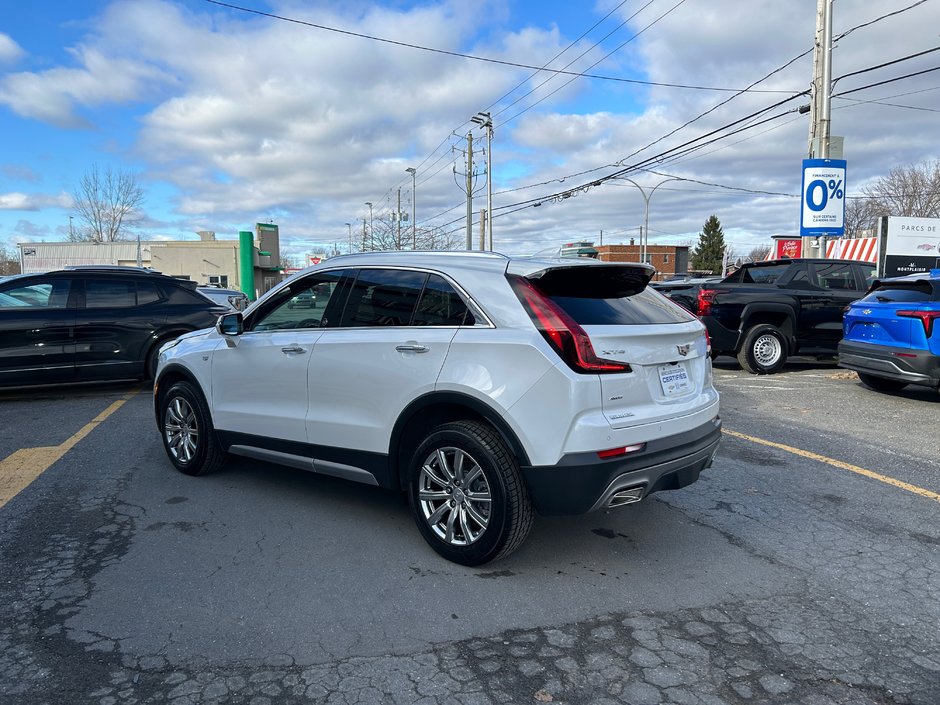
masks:
<svg viewBox="0 0 940 705"><path fill-rule="evenodd" d="M651 323L686 323L695 317L650 290L613 299L573 296L549 298L582 326L648 325Z"/></svg>

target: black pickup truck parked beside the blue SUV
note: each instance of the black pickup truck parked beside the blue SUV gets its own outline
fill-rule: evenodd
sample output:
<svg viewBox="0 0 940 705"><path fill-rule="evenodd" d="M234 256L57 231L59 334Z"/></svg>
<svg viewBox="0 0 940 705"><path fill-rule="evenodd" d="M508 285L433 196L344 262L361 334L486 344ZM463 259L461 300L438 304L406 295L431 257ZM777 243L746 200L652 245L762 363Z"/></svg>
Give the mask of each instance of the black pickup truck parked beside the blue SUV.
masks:
<svg viewBox="0 0 940 705"><path fill-rule="evenodd" d="M838 259L751 262L703 285L698 315L712 356L734 355L752 374L779 371L789 355L835 355L842 311L865 295L875 265Z"/></svg>

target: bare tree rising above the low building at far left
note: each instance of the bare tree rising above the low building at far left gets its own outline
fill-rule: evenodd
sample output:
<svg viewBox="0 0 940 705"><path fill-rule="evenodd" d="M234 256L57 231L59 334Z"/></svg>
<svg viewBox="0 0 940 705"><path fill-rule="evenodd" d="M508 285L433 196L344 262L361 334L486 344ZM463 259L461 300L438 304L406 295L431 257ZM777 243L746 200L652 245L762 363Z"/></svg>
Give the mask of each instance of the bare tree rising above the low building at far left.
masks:
<svg viewBox="0 0 940 705"><path fill-rule="evenodd" d="M140 207L144 192L130 172L110 167L102 171L95 164L85 172L73 198L83 226L70 233L69 239L114 242L124 239L126 221Z"/></svg>

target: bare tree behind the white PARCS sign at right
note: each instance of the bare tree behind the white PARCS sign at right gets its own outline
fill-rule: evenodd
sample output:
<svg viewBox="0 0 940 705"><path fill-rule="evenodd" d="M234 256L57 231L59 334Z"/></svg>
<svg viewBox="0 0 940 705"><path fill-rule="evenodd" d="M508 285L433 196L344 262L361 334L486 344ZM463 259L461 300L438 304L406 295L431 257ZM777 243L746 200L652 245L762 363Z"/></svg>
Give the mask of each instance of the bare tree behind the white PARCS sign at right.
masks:
<svg viewBox="0 0 940 705"><path fill-rule="evenodd" d="M875 217L940 218L940 159L892 169L862 193Z"/></svg>

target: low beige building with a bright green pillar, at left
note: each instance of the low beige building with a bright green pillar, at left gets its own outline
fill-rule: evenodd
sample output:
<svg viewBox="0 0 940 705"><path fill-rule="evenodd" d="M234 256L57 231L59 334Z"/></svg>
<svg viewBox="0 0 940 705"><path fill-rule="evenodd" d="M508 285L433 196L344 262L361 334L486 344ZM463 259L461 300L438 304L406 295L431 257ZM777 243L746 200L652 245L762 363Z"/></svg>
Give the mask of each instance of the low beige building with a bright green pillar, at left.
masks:
<svg viewBox="0 0 940 705"><path fill-rule="evenodd" d="M19 244L20 271L31 274L89 265L141 266L200 285L238 289L251 299L281 281L277 225L257 223L254 232L241 232L235 240L218 240L211 231L197 234L199 240L24 242Z"/></svg>

